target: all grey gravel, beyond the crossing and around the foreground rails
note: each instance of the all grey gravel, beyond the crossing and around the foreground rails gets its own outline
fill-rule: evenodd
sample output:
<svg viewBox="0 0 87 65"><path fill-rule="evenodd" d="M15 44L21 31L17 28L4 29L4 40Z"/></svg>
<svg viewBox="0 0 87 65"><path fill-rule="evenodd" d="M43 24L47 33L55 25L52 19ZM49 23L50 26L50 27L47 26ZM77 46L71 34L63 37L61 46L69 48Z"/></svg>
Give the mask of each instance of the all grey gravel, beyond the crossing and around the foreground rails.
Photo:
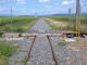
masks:
<svg viewBox="0 0 87 65"><path fill-rule="evenodd" d="M30 31L35 32L46 32L50 30L50 26L42 18L40 18L30 28ZM34 37L30 37L22 41L13 42L13 46L18 46L21 50L9 58L9 65L24 65L33 39ZM87 58L86 61L83 60L85 55L87 57L87 50L75 51L70 49L67 46L60 47L58 44L60 41L63 41L60 37L51 37L51 42L59 61L59 65L87 65ZM51 47L46 35L37 35L37 39L30 54L30 60L27 62L27 65L55 65L52 60Z"/></svg>

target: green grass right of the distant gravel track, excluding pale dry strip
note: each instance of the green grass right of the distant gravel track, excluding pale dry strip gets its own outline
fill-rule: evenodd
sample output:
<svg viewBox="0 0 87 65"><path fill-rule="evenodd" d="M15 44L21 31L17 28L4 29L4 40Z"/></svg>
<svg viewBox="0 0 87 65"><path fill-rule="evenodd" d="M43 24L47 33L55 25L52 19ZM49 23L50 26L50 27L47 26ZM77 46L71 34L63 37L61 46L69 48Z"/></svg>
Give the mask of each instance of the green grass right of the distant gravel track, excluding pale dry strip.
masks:
<svg viewBox="0 0 87 65"><path fill-rule="evenodd" d="M67 23L67 26L63 27L62 25L54 25L51 24L50 21L47 21L48 24L52 27L53 30L70 30L70 17L69 16L52 16L52 17L48 17L51 20L54 20L57 22L61 22L61 23ZM76 17L72 17L72 23L71 23L71 30L76 30ZM80 31L87 31L87 16L83 16L80 20Z"/></svg>

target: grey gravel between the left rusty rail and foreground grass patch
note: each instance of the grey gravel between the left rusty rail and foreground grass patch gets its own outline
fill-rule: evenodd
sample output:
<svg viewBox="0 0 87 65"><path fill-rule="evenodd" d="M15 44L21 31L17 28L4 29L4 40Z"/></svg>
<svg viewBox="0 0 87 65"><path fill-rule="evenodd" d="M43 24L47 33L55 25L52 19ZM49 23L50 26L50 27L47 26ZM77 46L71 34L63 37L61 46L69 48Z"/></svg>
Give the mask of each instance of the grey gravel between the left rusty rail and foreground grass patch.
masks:
<svg viewBox="0 0 87 65"><path fill-rule="evenodd" d="M9 65L24 65L34 37L15 41L13 46L20 47L20 51L9 57Z"/></svg>

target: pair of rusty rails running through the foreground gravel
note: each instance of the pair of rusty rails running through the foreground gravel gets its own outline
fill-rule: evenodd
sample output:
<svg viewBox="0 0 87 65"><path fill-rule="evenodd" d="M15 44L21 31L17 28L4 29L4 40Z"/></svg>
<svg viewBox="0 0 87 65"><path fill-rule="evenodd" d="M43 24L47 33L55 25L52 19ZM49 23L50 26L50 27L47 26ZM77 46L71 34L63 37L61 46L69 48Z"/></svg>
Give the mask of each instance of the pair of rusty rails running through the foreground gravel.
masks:
<svg viewBox="0 0 87 65"><path fill-rule="evenodd" d="M55 53L54 53L54 50L53 50L53 47L52 47L52 42L51 42L50 37L51 37L51 36L48 36L48 35L47 35L47 39L48 39L48 41L49 41L49 43L50 43L50 48L51 48L51 51L52 51L52 58L53 58L55 65L59 65L59 63L58 63L58 58L57 58L57 56L55 56ZM34 39L33 39L33 42L32 42L30 49L29 49L29 51L28 51L28 56L27 56L27 58L26 58L26 61L25 61L25 65L27 65L27 62L28 62L29 58L30 58L30 53L32 53L32 50L33 50L34 43L35 43L35 41L36 41L36 38L37 38L37 36L34 36Z"/></svg>

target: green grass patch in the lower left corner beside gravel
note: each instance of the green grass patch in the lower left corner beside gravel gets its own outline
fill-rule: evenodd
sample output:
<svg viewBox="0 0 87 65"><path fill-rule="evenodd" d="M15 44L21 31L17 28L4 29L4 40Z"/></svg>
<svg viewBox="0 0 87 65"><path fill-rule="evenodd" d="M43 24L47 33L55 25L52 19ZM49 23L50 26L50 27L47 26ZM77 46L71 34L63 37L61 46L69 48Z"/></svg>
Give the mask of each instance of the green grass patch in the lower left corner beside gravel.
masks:
<svg viewBox="0 0 87 65"><path fill-rule="evenodd" d="M16 52L16 48L0 42L0 65L7 65L7 60L11 56L14 52Z"/></svg>

